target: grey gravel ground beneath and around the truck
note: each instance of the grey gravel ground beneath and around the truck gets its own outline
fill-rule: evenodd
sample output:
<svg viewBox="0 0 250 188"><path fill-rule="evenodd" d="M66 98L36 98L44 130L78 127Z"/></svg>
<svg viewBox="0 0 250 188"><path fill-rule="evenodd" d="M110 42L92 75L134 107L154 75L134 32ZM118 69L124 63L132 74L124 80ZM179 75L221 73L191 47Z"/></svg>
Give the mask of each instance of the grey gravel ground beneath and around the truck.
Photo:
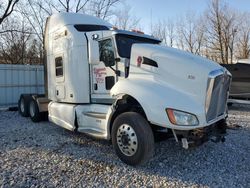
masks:
<svg viewBox="0 0 250 188"><path fill-rule="evenodd" d="M228 122L225 143L158 142L155 157L134 168L110 142L0 111L0 186L250 187L250 107L233 106Z"/></svg>

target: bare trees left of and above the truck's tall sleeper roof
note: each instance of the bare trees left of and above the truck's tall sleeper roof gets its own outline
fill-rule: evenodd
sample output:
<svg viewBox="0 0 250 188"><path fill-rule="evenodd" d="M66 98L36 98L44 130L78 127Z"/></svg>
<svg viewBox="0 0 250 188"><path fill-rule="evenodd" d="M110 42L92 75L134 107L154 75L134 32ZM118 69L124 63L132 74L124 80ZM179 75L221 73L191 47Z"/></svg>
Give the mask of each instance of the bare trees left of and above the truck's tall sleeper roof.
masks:
<svg viewBox="0 0 250 188"><path fill-rule="evenodd" d="M56 12L86 13L122 29L138 25L121 0L3 0L0 4L0 63L43 64L46 18Z"/></svg>

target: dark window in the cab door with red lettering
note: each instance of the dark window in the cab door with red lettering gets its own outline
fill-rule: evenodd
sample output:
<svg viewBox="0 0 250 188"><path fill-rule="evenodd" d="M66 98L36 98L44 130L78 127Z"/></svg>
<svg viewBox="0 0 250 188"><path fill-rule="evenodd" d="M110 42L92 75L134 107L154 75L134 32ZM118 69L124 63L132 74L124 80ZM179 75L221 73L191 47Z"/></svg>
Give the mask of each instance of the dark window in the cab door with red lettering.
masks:
<svg viewBox="0 0 250 188"><path fill-rule="evenodd" d="M103 61L106 67L115 65L114 48L111 39L99 41L100 61Z"/></svg>

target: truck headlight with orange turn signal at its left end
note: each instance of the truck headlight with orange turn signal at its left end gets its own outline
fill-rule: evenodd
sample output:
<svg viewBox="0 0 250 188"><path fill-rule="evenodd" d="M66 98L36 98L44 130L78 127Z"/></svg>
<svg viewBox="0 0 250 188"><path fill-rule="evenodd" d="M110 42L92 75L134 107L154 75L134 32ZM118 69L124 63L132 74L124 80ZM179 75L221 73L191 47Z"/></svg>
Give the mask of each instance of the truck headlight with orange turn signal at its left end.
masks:
<svg viewBox="0 0 250 188"><path fill-rule="evenodd" d="M195 126L199 124L197 117L193 114L173 109L166 109L166 112L170 122L174 125Z"/></svg>

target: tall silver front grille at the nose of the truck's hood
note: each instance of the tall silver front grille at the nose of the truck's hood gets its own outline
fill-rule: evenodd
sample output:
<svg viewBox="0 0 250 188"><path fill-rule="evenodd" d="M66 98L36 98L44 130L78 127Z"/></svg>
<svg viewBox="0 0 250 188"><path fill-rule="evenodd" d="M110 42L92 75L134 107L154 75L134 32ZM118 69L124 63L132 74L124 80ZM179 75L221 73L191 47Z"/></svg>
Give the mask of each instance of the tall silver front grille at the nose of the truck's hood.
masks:
<svg viewBox="0 0 250 188"><path fill-rule="evenodd" d="M207 122L225 113L230 82L231 76L223 69L209 74L206 98Z"/></svg>

